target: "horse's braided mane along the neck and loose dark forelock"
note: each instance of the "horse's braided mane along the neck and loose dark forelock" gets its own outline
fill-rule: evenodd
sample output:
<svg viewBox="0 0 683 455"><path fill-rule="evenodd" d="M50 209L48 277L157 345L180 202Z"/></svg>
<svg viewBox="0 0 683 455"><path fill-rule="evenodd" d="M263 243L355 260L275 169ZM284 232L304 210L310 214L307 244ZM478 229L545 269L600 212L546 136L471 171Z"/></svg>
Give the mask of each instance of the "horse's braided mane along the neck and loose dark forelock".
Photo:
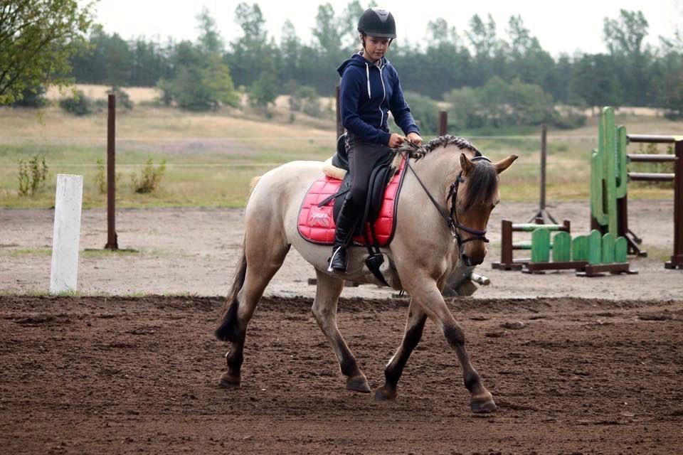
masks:
<svg viewBox="0 0 683 455"><path fill-rule="evenodd" d="M482 156L477 147L472 145L467 139L447 134L446 136L435 137L419 149L411 151L411 157L420 159L434 149L449 145L455 145L460 150L473 151L475 156ZM483 159L475 161L474 164L472 172L467 176L467 194L465 198L462 198L463 210L467 210L472 205L489 203L498 188L498 173L493 165Z"/></svg>

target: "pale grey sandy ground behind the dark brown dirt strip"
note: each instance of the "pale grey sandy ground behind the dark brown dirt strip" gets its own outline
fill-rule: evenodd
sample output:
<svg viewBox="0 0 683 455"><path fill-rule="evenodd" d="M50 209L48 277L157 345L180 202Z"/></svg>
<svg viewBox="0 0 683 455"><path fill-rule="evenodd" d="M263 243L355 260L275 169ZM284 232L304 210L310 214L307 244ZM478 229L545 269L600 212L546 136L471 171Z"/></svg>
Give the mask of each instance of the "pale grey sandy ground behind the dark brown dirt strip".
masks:
<svg viewBox="0 0 683 455"><path fill-rule="evenodd" d="M500 220L526 221L536 212L527 203L501 203L489 223L491 246L478 272L492 284L480 287L480 298L573 296L601 299L676 299L683 297L683 270L666 270L673 249L673 203L630 201L630 228L644 238L650 257L632 259L631 276L579 278L572 272L526 275L499 272ZM549 208L558 220L568 219L573 234L588 232L585 202ZM0 291L45 292L50 284L53 210L0 208ZM243 238L240 209L123 209L117 213L120 248L137 253L102 253L107 242L105 210L84 210L80 247L100 252L80 255L78 291L83 294L196 294L220 296L228 291ZM517 237L515 237L517 238ZM518 252L523 253L523 252ZM296 251L272 280L267 295L314 296L307 280L312 267ZM392 292L374 285L346 288L342 296L386 298Z"/></svg>

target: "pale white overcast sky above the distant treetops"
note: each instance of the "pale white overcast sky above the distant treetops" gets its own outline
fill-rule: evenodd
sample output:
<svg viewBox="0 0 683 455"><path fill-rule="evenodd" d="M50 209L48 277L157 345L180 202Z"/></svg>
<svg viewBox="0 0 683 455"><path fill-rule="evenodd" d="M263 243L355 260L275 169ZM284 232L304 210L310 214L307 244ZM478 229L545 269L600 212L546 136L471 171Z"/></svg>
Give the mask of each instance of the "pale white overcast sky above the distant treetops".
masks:
<svg viewBox="0 0 683 455"><path fill-rule="evenodd" d="M119 33L122 38L137 38L166 41L173 37L176 41L194 41L198 36L196 15L203 6L210 11L221 36L226 44L240 36L240 28L235 23L235 0L99 0L95 4L96 21L104 26L107 33ZM319 4L324 1L286 1L258 0L266 21L269 36L279 43L282 24L289 19L294 24L297 35L306 43L312 42L311 30ZM337 14L341 14L348 0L329 0ZM368 1L361 1L366 5ZM479 14L485 18L492 14L497 23L498 36L507 37L507 21L510 16L521 15L524 26L532 36L539 38L541 46L552 55L560 53L572 55L577 51L586 53L605 52L603 43L603 20L605 17L617 18L620 9L642 11L650 24L650 35L646 43L659 45L658 36L673 36L679 28L683 31L683 0L572 0L572 1L531 1L531 0L479 0L448 1L393 0L379 6L390 6L396 18L398 41L407 38L411 43L426 44L426 28L430 20L444 18L450 26L455 26L461 39L465 40L470 18Z"/></svg>

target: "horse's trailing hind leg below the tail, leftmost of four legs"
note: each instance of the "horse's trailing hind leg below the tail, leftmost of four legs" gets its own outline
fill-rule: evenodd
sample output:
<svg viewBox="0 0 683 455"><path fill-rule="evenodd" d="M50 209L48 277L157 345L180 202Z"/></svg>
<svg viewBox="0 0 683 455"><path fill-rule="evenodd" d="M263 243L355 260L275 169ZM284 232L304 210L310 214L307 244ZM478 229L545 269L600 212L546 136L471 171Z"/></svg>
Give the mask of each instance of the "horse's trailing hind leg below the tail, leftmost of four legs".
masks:
<svg viewBox="0 0 683 455"><path fill-rule="evenodd" d="M221 375L219 385L223 387L237 387L241 382L241 368L244 360L244 341L247 325L254 314L256 305L263 296L265 287L270 279L282 266L290 245L280 236L260 237L258 232L250 232L249 237L258 241L245 240L242 259L243 270L238 270L233 288L239 291L235 296L228 297L226 305L230 305L223 316L221 326L216 330L216 336L223 341L231 341L232 346L226 354L228 370ZM275 238L274 238L275 237ZM240 286L240 274L243 283ZM236 291L235 289L235 291ZM233 294L233 293L231 293Z"/></svg>

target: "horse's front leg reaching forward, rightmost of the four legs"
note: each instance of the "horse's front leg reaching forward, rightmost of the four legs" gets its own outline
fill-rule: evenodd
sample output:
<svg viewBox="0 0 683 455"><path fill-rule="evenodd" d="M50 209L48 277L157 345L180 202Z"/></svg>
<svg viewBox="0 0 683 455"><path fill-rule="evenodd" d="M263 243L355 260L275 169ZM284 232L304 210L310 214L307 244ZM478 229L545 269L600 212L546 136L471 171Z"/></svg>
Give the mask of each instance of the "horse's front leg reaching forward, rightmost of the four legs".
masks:
<svg viewBox="0 0 683 455"><path fill-rule="evenodd" d="M497 409L491 393L482 385L477 370L470 363L470 355L465 349L465 333L455 322L452 314L448 310L443 296L433 279L428 277L415 277L408 284L410 289L406 290L413 297L429 318L436 323L438 328L443 331L443 336L448 344L455 349L457 360L462 365L462 376L465 380L465 387L470 391L470 407L473 412L493 412Z"/></svg>

